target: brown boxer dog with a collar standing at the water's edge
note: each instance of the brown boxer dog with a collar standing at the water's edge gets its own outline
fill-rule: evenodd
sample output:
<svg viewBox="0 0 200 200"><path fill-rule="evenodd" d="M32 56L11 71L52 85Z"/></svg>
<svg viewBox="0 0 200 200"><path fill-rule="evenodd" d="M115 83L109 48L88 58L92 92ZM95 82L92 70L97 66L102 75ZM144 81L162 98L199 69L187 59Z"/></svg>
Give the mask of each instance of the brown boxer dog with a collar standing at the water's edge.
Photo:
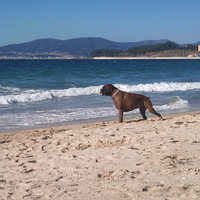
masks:
<svg viewBox="0 0 200 200"><path fill-rule="evenodd" d="M119 123L123 122L124 112L128 112L136 108L140 109L140 113L145 120L147 119L145 115L146 109L162 119L162 116L154 110L149 98L144 95L123 92L121 90L118 90L112 84L104 85L103 88L100 90L100 94L104 96L111 96L113 98L115 107L118 109L119 112Z"/></svg>

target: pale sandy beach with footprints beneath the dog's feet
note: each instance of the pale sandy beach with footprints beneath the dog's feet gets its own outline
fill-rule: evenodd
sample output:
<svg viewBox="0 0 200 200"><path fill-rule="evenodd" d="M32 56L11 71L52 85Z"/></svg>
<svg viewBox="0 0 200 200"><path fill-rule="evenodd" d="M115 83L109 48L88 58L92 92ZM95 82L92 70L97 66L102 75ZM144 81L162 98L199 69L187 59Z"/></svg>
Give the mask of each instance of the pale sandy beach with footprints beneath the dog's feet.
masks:
<svg viewBox="0 0 200 200"><path fill-rule="evenodd" d="M0 199L200 199L200 111L0 134Z"/></svg>

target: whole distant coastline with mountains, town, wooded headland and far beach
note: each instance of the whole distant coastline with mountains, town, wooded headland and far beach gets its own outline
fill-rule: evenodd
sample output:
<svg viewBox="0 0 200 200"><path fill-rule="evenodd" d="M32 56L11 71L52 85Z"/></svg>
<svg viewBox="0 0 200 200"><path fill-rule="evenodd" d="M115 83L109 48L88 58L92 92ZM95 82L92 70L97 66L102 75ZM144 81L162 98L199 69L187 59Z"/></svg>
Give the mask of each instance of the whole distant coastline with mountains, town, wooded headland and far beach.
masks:
<svg viewBox="0 0 200 200"><path fill-rule="evenodd" d="M168 39L113 42L94 37L69 40L46 38L2 46L0 59L193 59L200 57L198 45L200 49L200 41L178 45Z"/></svg>

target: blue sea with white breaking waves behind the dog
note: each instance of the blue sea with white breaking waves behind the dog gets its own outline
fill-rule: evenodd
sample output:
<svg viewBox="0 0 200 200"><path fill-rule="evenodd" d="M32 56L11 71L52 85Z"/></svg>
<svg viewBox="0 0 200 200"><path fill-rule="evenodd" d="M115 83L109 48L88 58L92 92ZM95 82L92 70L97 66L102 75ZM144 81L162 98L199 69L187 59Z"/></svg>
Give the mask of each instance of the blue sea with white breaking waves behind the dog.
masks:
<svg viewBox="0 0 200 200"><path fill-rule="evenodd" d="M117 120L99 94L108 83L150 97L160 114L200 110L200 60L0 60L0 132Z"/></svg>

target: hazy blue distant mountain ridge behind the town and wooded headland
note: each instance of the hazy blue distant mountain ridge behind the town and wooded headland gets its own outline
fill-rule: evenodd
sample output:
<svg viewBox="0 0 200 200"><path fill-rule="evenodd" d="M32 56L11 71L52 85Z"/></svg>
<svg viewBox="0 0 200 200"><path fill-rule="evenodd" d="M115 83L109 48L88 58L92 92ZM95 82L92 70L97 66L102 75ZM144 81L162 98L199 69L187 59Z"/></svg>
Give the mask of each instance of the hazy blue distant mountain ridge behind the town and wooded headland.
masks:
<svg viewBox="0 0 200 200"><path fill-rule="evenodd" d="M113 42L104 38L76 38L69 40L58 39L38 39L21 44L10 44L0 47L0 52L26 52L26 53L44 53L44 52L68 52L73 56L86 56L97 49L118 49L127 50L135 46L154 45L165 43L169 40L146 40L140 42Z"/></svg>

